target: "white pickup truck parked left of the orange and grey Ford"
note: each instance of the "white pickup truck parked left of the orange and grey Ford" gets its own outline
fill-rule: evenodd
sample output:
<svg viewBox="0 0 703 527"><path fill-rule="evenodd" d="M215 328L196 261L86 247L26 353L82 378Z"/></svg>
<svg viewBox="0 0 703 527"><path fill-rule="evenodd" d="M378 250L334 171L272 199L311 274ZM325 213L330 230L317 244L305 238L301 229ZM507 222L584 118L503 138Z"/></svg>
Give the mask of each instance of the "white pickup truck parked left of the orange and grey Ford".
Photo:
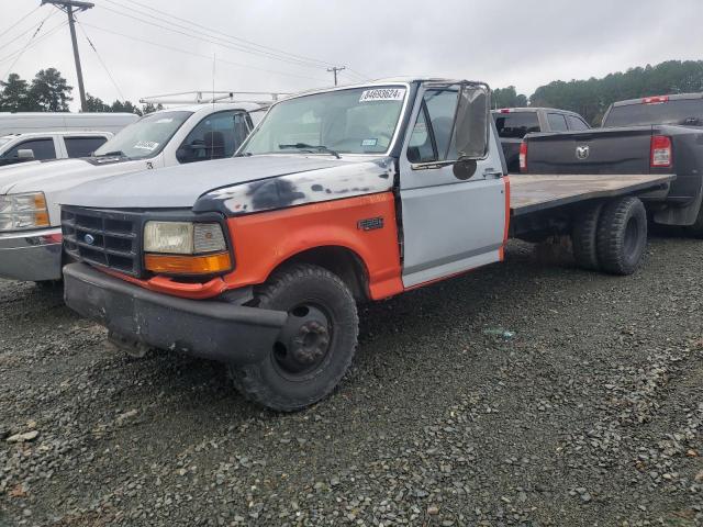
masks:
<svg viewBox="0 0 703 527"><path fill-rule="evenodd" d="M115 175L231 157L254 127L253 117L258 122L266 108L217 102L161 110L90 153L83 150L86 157L0 169L0 278L35 282L62 278L62 192ZM67 152L72 148L66 146ZM148 172L140 176L148 177Z"/></svg>

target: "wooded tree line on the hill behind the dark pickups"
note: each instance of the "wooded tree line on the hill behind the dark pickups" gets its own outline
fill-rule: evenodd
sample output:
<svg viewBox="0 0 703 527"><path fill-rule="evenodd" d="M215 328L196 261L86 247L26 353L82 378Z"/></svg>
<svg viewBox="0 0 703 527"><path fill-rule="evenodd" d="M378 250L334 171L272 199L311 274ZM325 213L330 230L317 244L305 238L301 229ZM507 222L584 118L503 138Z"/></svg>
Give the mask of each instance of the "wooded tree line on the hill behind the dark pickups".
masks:
<svg viewBox="0 0 703 527"><path fill-rule="evenodd" d="M607 108L615 101L641 97L703 91L703 60L667 60L656 66L588 80L555 80L540 86L527 98L514 86L493 91L494 108L550 106L583 115L599 126Z"/></svg>

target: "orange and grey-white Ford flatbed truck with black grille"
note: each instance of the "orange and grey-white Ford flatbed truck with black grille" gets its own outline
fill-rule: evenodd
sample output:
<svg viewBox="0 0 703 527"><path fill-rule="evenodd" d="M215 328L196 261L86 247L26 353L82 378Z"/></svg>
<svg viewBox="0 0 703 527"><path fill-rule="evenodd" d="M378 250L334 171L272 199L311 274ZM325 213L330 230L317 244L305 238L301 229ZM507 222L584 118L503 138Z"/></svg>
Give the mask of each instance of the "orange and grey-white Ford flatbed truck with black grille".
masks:
<svg viewBox="0 0 703 527"><path fill-rule="evenodd" d="M230 159L63 197L66 303L129 352L225 362L270 408L330 394L357 302L501 261L509 234L570 234L583 267L633 272L635 194L673 175L506 176L480 82L391 79L271 106Z"/></svg>

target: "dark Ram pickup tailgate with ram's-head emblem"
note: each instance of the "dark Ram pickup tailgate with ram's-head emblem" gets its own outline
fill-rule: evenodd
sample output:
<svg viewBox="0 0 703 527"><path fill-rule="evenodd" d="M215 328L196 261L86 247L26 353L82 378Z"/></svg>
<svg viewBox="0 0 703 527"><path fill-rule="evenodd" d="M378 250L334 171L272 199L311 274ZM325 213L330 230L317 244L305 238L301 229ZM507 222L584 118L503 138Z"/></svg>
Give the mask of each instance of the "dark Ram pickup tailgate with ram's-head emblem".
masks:
<svg viewBox="0 0 703 527"><path fill-rule="evenodd" d="M649 173L651 126L528 135L528 173ZM578 152L577 152L578 149Z"/></svg>

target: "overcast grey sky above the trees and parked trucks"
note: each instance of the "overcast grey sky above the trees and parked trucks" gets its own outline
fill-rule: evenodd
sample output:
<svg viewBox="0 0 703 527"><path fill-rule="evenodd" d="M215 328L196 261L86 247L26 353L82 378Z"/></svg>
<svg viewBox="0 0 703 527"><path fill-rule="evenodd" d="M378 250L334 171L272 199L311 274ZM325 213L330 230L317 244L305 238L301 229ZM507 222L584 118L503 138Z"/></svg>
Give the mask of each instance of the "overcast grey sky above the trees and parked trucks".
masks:
<svg viewBox="0 0 703 527"><path fill-rule="evenodd" d="M326 67L339 65L350 68L339 76L345 83L431 75L483 80L494 88L514 85L526 94L556 79L703 58L702 0L92 1L96 7L77 19L114 82L80 27L78 43L87 91L109 102L210 90L213 55L216 90L291 92L328 86ZM0 0L0 76L7 78L11 67L24 78L56 67L76 87L76 109L70 36L66 25L59 26L66 15L40 3ZM245 41L266 46L256 49L268 56L236 49L254 48ZM31 47L19 55L27 42Z"/></svg>

